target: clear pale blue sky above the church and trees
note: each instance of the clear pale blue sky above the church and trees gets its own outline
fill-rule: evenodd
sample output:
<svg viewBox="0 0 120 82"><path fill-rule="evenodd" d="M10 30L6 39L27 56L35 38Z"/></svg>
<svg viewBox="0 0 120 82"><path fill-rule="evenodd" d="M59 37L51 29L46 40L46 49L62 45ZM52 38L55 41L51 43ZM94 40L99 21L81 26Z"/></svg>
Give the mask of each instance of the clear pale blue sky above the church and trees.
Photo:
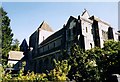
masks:
<svg viewBox="0 0 120 82"><path fill-rule="evenodd" d="M43 21L57 31L66 24L70 16L78 17L84 9L90 16L95 15L118 28L117 2L3 2L2 7L11 19L10 26L14 39L20 43L37 30Z"/></svg>

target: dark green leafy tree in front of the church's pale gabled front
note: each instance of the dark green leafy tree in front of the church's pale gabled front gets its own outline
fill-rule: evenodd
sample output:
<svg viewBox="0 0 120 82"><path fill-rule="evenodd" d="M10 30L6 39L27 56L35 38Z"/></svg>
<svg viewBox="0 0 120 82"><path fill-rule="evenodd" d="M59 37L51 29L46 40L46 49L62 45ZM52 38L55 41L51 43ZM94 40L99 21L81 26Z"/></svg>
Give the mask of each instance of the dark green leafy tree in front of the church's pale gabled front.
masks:
<svg viewBox="0 0 120 82"><path fill-rule="evenodd" d="M68 77L70 80L78 82L99 81L100 75L96 60L100 59L98 55L101 52L102 50L97 47L84 52L78 45L74 45L71 48L71 57L69 59L71 70Z"/></svg>

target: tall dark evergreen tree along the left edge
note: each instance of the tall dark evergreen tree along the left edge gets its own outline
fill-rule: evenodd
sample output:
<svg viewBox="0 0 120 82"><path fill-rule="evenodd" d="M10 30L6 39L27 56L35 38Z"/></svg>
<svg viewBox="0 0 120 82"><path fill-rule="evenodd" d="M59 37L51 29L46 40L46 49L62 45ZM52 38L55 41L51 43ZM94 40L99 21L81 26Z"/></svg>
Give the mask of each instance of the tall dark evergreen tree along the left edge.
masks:
<svg viewBox="0 0 120 82"><path fill-rule="evenodd" d="M13 33L10 28L10 19L7 16L7 13L2 7L0 8L0 11L2 16L2 24L0 28L2 31L2 64L7 64L8 52L11 49Z"/></svg>

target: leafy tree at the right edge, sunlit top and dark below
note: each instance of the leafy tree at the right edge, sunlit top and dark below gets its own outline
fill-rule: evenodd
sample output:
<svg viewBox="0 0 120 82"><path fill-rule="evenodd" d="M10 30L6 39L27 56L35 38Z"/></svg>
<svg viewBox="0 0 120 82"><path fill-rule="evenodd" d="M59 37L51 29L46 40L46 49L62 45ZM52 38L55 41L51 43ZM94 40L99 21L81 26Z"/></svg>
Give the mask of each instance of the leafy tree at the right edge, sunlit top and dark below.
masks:
<svg viewBox="0 0 120 82"><path fill-rule="evenodd" d="M101 67L104 69L104 79L107 80L112 74L120 74L120 42L106 41L103 50L104 58Z"/></svg>

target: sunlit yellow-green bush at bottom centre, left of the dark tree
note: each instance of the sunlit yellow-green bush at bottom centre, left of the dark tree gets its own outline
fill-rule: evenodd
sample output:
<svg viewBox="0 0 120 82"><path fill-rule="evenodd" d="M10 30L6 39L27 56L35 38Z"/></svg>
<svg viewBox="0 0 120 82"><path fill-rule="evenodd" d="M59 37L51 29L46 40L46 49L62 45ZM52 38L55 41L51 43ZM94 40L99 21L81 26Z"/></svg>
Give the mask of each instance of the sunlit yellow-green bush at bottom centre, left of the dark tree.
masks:
<svg viewBox="0 0 120 82"><path fill-rule="evenodd" d="M71 68L70 65L68 65L68 60L58 61L56 62L56 67L50 71L48 74L48 79L50 81L66 81L68 80L68 72Z"/></svg>

